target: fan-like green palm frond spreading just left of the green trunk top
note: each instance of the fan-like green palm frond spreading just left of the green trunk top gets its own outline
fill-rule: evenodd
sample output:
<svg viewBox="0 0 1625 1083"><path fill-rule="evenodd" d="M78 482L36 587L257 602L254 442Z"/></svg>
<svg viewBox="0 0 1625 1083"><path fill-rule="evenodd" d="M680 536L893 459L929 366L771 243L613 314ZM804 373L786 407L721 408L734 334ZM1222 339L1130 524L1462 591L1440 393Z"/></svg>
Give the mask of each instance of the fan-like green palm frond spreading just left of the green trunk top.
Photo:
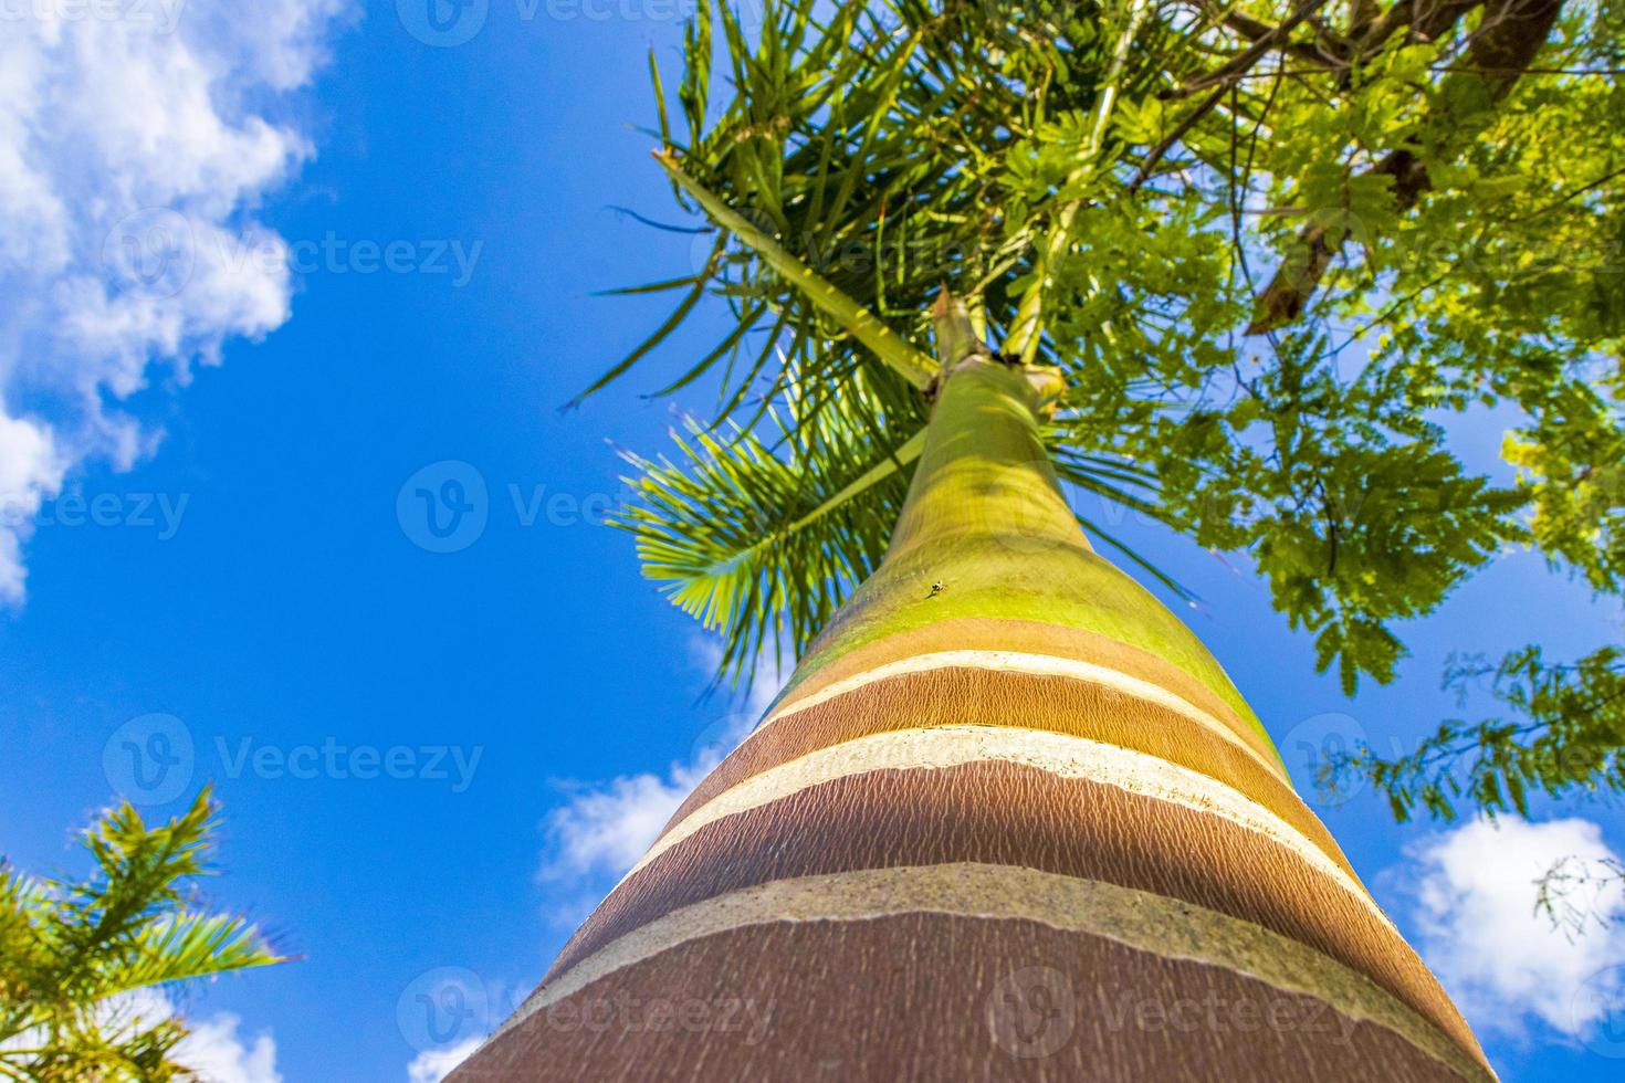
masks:
<svg viewBox="0 0 1625 1083"><path fill-rule="evenodd" d="M749 679L764 653L788 669L780 651L800 654L879 565L925 443L920 412L876 432L869 409L806 422L809 406L769 408L767 440L689 421L678 461L624 455L639 500L616 524L637 536L644 575L722 636L718 679Z"/></svg>

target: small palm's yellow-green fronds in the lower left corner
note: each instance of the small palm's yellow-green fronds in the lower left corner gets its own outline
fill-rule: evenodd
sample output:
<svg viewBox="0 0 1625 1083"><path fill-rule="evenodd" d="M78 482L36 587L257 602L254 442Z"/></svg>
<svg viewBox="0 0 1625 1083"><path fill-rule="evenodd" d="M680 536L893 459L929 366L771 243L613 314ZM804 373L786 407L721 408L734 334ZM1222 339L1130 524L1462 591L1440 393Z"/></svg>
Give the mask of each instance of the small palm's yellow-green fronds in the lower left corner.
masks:
<svg viewBox="0 0 1625 1083"><path fill-rule="evenodd" d="M83 835L89 878L0 864L0 1078L188 1078L172 1059L185 1025L128 994L283 961L242 917L197 908L214 826L208 791L158 826L125 802Z"/></svg>

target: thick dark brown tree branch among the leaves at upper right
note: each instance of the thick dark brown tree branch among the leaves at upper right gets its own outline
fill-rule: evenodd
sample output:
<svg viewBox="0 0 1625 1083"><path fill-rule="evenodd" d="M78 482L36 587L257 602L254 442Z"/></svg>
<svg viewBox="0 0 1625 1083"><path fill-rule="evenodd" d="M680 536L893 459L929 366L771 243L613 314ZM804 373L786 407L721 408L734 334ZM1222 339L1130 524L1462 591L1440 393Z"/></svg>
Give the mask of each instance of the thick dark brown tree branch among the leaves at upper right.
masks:
<svg viewBox="0 0 1625 1083"><path fill-rule="evenodd" d="M1476 0L1477 2L1477 0ZM1474 3L1432 3L1414 16L1414 29L1427 39L1448 31ZM1467 45L1472 71L1459 71L1446 78L1443 96L1480 99L1485 104L1505 97L1529 62L1540 52L1557 16L1562 0L1490 0L1484 5L1484 23ZM1389 151L1370 169L1373 177L1393 177L1394 209L1406 213L1428 190L1427 159L1456 157L1456 149L1482 123L1445 109L1428 122L1430 145L1422 138ZM1347 229L1308 226L1298 234L1290 253L1276 276L1258 297L1248 334L1263 334L1292 323L1303 315L1331 261L1352 234Z"/></svg>

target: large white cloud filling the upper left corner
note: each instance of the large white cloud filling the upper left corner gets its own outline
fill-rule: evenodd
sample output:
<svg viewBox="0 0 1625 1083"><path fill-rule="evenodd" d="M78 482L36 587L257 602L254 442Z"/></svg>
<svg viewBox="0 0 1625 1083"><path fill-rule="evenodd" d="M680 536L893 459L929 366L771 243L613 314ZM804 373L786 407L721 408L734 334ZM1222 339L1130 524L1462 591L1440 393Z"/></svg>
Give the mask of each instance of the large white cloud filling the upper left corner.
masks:
<svg viewBox="0 0 1625 1083"><path fill-rule="evenodd" d="M289 315L254 213L312 149L270 110L348 0L32 0L0 34L0 602L73 469L161 437L125 401ZM252 102L252 104L250 104Z"/></svg>

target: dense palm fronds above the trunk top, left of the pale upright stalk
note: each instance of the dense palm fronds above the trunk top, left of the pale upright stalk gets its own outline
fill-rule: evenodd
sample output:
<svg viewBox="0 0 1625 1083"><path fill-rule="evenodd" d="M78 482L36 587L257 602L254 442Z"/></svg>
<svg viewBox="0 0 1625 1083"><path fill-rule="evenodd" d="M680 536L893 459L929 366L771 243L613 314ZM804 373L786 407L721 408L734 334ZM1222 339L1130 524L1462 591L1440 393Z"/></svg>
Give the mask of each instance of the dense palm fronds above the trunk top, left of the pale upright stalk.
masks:
<svg viewBox="0 0 1625 1083"><path fill-rule="evenodd" d="M1173 37L1141 10L788 0L764 5L751 42L726 3L700 3L679 93L689 135L678 140L661 107L661 138L668 161L681 161L702 185L679 180L681 193L718 193L713 203L697 198L696 209L722 224L722 206L734 222L723 224L696 274L655 284L684 291L671 318L587 393L648 356L707 291L733 307L736 323L666 390L715 377L717 417L752 391L772 399L790 372L824 386L845 386L861 372L878 406L895 406L908 382L918 386L874 347L874 334L834 317L808 294L804 276L744 237L741 222L868 313L871 331L923 346L930 300L951 283L983 297L990 330L1008 333L1024 300L1046 286L1038 242L1121 156L1105 123L1115 91L1165 80L1160 67L1128 60L1165 57ZM718 44L736 94L710 117ZM655 86L658 94L658 70ZM1030 187L1038 167L1020 146L1058 127L1077 130L1069 151L1077 175L1035 206L1027 196L1012 203L1011 187ZM1034 356L1071 364L1051 357L1042 334Z"/></svg>

